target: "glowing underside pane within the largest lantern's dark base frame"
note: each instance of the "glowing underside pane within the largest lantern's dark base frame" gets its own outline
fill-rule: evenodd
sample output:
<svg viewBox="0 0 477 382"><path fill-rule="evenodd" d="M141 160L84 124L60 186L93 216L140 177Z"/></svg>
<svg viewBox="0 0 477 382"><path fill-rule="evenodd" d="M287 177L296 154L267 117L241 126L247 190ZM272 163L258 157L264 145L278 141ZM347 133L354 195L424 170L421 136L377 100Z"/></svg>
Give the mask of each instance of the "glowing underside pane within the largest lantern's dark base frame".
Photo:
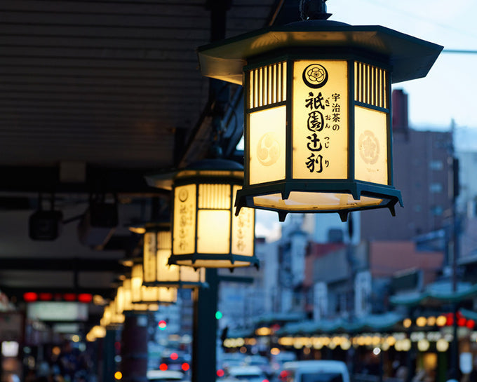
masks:
<svg viewBox="0 0 477 382"><path fill-rule="evenodd" d="M343 210L349 207L380 205L382 199L361 196L359 200L354 200L353 196L347 193L311 193L293 191L288 199L283 200L281 194L254 196L253 203L257 207L277 208L289 211L319 211L319 210Z"/></svg>

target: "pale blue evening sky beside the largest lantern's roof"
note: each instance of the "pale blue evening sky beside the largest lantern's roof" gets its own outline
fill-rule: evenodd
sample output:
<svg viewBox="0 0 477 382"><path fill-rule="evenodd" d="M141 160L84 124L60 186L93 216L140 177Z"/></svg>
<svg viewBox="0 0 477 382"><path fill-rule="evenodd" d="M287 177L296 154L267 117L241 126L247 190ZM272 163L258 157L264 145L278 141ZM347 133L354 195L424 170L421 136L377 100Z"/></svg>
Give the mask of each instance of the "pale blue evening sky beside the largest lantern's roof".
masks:
<svg viewBox="0 0 477 382"><path fill-rule="evenodd" d="M424 79L394 84L409 96L412 128L477 130L477 1L329 0L330 20L382 25L444 46L476 53L441 53Z"/></svg>

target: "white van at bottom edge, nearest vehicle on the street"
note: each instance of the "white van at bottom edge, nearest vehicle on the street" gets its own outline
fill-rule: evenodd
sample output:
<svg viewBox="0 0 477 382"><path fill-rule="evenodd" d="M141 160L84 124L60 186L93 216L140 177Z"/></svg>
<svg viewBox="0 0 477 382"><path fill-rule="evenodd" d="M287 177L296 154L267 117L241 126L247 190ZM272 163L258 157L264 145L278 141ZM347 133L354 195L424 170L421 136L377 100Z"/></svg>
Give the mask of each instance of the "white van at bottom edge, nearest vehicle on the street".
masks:
<svg viewBox="0 0 477 382"><path fill-rule="evenodd" d="M349 382L349 371L342 361L285 362L278 380L281 382Z"/></svg>

